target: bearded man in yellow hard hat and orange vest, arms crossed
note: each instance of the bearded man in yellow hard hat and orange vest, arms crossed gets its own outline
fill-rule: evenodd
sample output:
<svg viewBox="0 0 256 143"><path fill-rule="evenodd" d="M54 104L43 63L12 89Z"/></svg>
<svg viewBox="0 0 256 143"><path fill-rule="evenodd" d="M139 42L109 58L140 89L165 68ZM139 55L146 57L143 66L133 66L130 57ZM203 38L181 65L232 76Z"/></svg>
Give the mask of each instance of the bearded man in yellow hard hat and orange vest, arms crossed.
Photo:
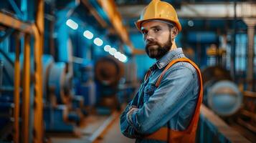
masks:
<svg viewBox="0 0 256 143"><path fill-rule="evenodd" d="M136 26L145 50L156 63L120 115L120 130L136 142L195 142L202 77L199 68L177 48L181 24L171 4L153 0Z"/></svg>

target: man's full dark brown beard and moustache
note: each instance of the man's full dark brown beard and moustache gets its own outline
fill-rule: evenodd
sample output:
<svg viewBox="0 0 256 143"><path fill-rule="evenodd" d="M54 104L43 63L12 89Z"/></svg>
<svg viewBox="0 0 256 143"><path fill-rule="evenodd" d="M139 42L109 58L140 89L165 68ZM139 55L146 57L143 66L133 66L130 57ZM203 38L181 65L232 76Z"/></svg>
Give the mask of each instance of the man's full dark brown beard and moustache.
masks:
<svg viewBox="0 0 256 143"><path fill-rule="evenodd" d="M157 41L149 41L146 44L146 53L151 59L160 59L168 51L170 51L172 46L171 38L161 46Z"/></svg>

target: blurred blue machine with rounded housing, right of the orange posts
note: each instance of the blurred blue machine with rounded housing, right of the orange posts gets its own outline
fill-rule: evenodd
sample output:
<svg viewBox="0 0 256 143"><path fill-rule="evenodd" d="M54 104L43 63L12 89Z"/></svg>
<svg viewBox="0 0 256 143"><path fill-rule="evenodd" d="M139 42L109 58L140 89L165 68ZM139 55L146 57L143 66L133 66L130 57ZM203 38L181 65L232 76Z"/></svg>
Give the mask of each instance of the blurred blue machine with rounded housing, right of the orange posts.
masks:
<svg viewBox="0 0 256 143"><path fill-rule="evenodd" d="M72 95L71 77L64 62L54 62L52 56L42 56L44 67L44 124L47 132L73 132L83 115L82 98ZM66 106L65 106L66 105ZM70 105L70 106L67 106ZM69 123L68 123L69 122Z"/></svg>

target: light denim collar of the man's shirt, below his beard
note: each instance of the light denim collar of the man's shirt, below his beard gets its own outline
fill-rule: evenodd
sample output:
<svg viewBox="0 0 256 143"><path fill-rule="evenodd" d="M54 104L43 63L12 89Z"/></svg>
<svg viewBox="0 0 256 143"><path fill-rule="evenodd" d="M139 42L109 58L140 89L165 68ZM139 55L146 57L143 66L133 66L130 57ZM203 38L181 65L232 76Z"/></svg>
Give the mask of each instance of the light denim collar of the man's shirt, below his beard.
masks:
<svg viewBox="0 0 256 143"><path fill-rule="evenodd" d="M184 54L181 48L171 50L167 54L165 54L163 57L161 57L161 59L158 59L158 61L156 61L156 66L158 67L158 69L162 69L164 66L169 64L170 61L181 58L181 57L184 57Z"/></svg>

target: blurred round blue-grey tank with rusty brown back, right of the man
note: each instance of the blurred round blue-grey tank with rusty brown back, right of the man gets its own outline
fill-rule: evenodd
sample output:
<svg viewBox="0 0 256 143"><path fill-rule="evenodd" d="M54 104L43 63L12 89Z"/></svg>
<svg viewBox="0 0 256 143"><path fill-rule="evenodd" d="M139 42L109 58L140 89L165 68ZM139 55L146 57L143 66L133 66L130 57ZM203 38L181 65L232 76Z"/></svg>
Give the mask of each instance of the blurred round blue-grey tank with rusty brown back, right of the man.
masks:
<svg viewBox="0 0 256 143"><path fill-rule="evenodd" d="M204 83L203 102L216 114L228 117L238 111L242 104L242 94L229 71L219 66L210 66L202 71Z"/></svg>

